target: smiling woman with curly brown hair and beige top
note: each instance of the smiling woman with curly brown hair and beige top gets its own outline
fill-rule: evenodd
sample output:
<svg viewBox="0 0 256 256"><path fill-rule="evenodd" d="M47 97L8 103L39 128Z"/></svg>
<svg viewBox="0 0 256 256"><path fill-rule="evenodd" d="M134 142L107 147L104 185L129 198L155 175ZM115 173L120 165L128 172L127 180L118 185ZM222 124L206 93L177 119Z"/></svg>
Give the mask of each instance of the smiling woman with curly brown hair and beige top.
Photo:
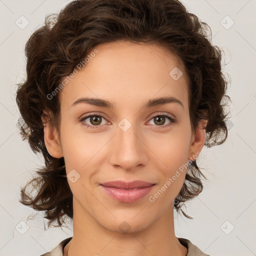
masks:
<svg viewBox="0 0 256 256"><path fill-rule="evenodd" d="M227 137L206 27L177 0L74 0L30 36L16 101L45 166L20 202L73 221L43 255L206 255L173 224L202 191L203 145Z"/></svg>

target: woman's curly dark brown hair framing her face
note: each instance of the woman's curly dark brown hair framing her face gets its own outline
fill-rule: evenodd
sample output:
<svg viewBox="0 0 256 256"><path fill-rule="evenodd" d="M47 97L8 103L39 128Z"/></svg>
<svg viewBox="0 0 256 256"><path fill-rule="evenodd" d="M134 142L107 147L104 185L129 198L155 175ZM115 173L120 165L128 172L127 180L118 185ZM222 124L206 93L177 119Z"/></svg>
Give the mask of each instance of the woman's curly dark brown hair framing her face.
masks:
<svg viewBox="0 0 256 256"><path fill-rule="evenodd" d="M48 227L53 221L61 226L64 217L73 217L64 158L48 153L41 117L59 131L59 96L49 99L47 95L100 43L156 43L179 56L189 78L192 130L200 120L207 120L204 145L223 143L227 137L224 107L230 100L225 94L228 81L221 71L221 49L207 38L208 30L211 35L208 28L178 0L73 0L59 13L46 15L44 24L26 42L27 77L17 84L16 92L22 140L28 139L33 152L43 154L45 166L38 168L38 175L21 188L19 201L44 211ZM202 191L202 177L206 179L196 161L191 161L174 200L176 211L181 210L188 218L192 217L181 206ZM36 189L35 196L28 190L30 185Z"/></svg>

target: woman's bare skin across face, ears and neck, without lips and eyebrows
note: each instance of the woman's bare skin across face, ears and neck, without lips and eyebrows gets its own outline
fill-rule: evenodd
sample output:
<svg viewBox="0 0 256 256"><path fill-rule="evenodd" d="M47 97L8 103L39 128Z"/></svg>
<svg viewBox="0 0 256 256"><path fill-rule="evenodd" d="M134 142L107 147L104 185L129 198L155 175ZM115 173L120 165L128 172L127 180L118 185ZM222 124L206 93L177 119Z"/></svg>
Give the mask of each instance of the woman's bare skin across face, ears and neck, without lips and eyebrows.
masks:
<svg viewBox="0 0 256 256"><path fill-rule="evenodd" d="M149 201L187 160L201 151L205 130L199 126L193 134L188 111L188 83L182 61L156 44L115 41L97 45L98 53L90 59L59 92L60 139L55 127L46 125L44 140L48 152L64 157L66 173L75 169L80 177L68 184L73 193L73 237L68 255L99 256L185 256L187 248L174 233L173 200L178 195L186 169L157 198ZM183 75L174 80L174 67ZM115 109L79 103L81 96L103 98ZM178 103L141 108L150 98L174 96ZM153 116L167 113L160 125ZM89 114L104 114L96 120L98 129L79 122ZM158 114L158 115L157 115ZM126 131L118 123L126 118ZM164 118L164 117L163 117ZM83 123L93 125L90 118ZM158 124L158 125L157 125ZM204 123L206 124L206 123ZM158 127L158 128L157 128ZM111 180L144 180L156 183L145 197L135 202L110 198L99 183ZM129 230L119 225L126 221ZM95 255L97 255L95 254Z"/></svg>

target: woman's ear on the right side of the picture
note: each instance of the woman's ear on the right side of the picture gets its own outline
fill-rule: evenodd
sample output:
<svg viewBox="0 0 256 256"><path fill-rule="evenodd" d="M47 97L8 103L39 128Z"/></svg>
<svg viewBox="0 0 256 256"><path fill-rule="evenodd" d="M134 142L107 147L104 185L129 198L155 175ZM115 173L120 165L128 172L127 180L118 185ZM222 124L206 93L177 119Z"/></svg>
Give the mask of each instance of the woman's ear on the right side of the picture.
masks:
<svg viewBox="0 0 256 256"><path fill-rule="evenodd" d="M205 142L205 127L207 125L207 120L201 120L195 130L195 133L192 134L190 140L190 147L188 150L187 160L195 160L199 153L202 150L202 147Z"/></svg>

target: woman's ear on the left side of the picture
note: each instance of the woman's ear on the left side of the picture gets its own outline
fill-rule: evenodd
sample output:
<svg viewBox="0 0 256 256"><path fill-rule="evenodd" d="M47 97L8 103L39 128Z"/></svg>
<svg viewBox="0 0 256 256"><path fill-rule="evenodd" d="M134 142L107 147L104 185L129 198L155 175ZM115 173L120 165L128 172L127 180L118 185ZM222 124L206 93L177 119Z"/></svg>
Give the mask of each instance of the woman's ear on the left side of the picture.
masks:
<svg viewBox="0 0 256 256"><path fill-rule="evenodd" d="M57 129L56 127L52 127L49 123L49 115L48 113L43 110L43 113L41 115L41 119L44 125L44 143L47 148L48 153L55 158L60 158L63 156L60 141L58 139L57 135ZM45 115L47 117L45 117Z"/></svg>

